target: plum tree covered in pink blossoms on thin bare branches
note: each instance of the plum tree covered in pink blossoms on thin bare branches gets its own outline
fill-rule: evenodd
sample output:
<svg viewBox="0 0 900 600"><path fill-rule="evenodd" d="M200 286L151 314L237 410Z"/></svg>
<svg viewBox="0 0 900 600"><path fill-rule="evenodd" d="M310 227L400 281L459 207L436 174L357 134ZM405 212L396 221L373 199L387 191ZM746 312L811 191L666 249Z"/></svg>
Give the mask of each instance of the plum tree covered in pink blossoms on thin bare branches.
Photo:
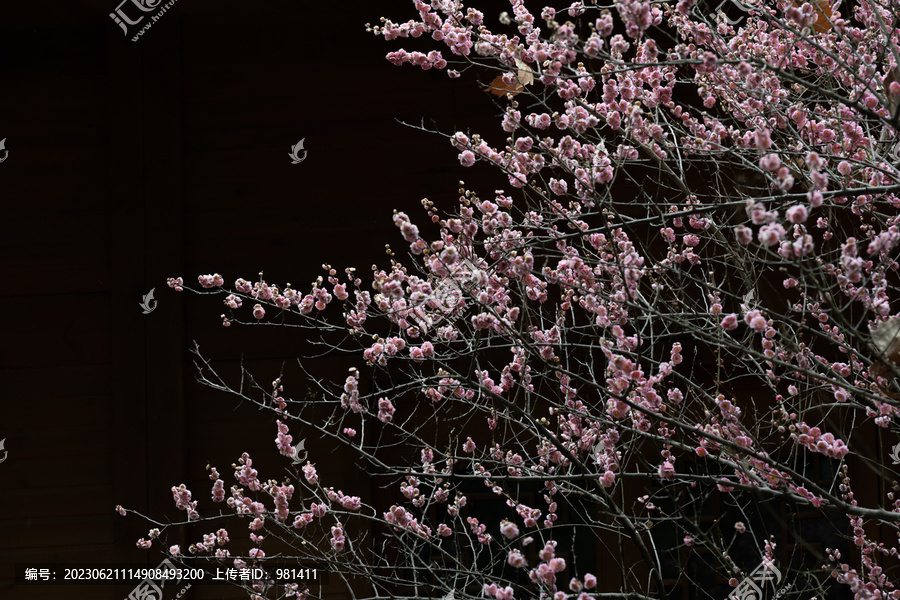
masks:
<svg viewBox="0 0 900 600"><path fill-rule="evenodd" d="M413 4L369 30L415 46L394 64L494 78L502 131L440 135L508 187L395 212L408 251L371 279L193 290L357 357L314 401L201 367L274 411L286 463L316 430L384 491L244 454L206 509L173 493L247 518L168 551L277 541L355 598L749 597L761 562L794 597L900 598L900 4Z"/></svg>

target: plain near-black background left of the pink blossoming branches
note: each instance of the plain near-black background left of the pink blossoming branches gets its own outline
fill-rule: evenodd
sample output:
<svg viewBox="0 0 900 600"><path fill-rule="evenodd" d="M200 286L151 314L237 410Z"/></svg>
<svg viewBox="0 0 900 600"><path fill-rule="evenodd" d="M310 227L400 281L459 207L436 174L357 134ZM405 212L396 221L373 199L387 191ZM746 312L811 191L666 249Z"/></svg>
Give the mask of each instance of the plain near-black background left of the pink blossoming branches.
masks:
<svg viewBox="0 0 900 600"><path fill-rule="evenodd" d="M302 289L323 262L385 265L385 243L406 246L393 209L422 222L423 197L452 207L458 180L478 176L397 119L496 129L478 77L398 68L384 55L404 44L366 33L381 16L416 17L412 2L178 0L133 42L147 19L126 37L109 17L119 1L0 8L3 598L121 600L133 586L17 585L13 570L155 566L158 549L135 547L148 523L117 504L180 520L170 488L188 484L208 508L207 463L229 482L243 451L261 474L281 468L271 416L197 384L188 350L196 340L226 372L243 358L268 384L302 334L225 329L221 296L178 294L167 277L231 285L263 270ZM291 164L301 138L307 158ZM307 448L344 481L336 450Z"/></svg>

